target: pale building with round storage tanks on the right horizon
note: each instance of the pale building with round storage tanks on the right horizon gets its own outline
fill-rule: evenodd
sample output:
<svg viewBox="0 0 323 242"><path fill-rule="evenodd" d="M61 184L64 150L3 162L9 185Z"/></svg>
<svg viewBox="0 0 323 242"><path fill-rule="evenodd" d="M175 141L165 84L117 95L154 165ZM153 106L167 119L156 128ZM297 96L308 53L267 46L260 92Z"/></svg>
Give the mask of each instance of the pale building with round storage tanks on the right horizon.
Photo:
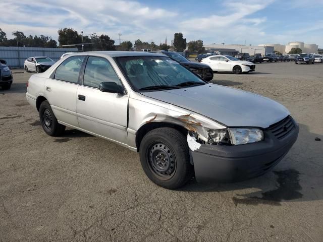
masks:
<svg viewBox="0 0 323 242"><path fill-rule="evenodd" d="M301 41L292 41L287 45L281 44L259 44L259 46L273 46L274 51L280 53L289 53L292 48L300 48L303 53L317 53L318 45L317 44L305 44Z"/></svg>

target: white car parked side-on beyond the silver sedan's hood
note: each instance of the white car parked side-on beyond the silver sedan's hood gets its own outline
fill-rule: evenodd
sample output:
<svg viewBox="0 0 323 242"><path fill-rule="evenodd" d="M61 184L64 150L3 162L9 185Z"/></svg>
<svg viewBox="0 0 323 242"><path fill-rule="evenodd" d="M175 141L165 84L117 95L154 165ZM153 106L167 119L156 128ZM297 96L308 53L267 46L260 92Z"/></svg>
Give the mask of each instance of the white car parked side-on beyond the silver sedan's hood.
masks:
<svg viewBox="0 0 323 242"><path fill-rule="evenodd" d="M252 62L240 61L230 55L212 55L202 60L213 72L233 72L234 74L254 72L256 65Z"/></svg>

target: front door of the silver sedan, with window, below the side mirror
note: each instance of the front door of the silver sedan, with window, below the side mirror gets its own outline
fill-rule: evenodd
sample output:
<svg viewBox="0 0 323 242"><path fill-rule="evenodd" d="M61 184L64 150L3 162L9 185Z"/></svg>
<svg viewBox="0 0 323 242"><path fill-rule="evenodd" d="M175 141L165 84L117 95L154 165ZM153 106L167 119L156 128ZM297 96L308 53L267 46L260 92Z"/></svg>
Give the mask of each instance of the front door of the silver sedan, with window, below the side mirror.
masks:
<svg viewBox="0 0 323 242"><path fill-rule="evenodd" d="M76 111L80 128L125 144L127 140L127 94L102 92L102 82L114 82L123 88L111 63L103 57L89 56L83 85L77 90Z"/></svg>

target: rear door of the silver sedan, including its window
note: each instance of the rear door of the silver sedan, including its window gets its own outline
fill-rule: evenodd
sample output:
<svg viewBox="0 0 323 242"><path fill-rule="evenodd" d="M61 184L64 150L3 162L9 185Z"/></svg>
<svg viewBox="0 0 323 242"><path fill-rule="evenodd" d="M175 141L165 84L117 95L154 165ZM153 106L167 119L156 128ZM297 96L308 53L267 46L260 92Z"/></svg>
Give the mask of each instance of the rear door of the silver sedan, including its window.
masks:
<svg viewBox="0 0 323 242"><path fill-rule="evenodd" d="M46 80L44 92L56 118L64 124L79 127L76 116L76 93L84 56L67 58Z"/></svg>

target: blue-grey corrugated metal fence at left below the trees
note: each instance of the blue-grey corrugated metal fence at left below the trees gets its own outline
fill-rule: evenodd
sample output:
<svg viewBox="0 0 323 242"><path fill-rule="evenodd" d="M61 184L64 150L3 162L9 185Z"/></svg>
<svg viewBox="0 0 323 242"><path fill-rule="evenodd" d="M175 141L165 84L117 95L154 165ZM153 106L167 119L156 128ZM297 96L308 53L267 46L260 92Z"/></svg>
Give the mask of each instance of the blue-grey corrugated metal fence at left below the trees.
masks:
<svg viewBox="0 0 323 242"><path fill-rule="evenodd" d="M3 47L0 46L0 59L7 61L12 68L24 67L24 61L31 56L47 56L58 61L66 52L78 52L77 48L41 48L41 47Z"/></svg>

